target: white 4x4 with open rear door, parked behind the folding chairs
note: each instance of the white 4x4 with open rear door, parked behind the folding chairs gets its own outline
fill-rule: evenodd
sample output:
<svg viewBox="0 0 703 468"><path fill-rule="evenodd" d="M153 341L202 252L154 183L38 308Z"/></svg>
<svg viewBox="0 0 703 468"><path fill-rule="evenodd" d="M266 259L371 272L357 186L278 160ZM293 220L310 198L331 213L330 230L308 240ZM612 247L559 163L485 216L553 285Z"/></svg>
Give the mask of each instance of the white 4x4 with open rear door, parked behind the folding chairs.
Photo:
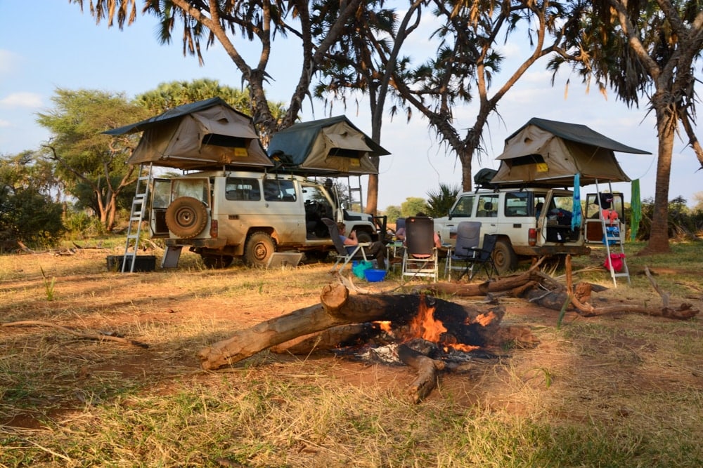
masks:
<svg viewBox="0 0 703 468"><path fill-rule="evenodd" d="M583 236L583 221L572 230L572 203L572 192L561 189L464 192L448 217L435 218L434 228L442 241L453 245L459 222L481 222L481 239L484 234L498 236L494 262L503 274L515 269L521 258L591 253Z"/></svg>

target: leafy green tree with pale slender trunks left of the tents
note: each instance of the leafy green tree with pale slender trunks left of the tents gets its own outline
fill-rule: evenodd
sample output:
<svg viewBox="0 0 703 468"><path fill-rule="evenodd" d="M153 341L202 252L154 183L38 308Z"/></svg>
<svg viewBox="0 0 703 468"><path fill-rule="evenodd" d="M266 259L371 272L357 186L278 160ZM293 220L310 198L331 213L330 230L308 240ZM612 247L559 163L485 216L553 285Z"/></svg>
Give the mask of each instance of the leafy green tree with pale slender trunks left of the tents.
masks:
<svg viewBox="0 0 703 468"><path fill-rule="evenodd" d="M131 135L114 138L102 132L146 118L146 109L121 93L64 88L55 93L51 98L55 107L37 114L37 122L53 135L43 145L47 150L43 157L56 164L56 175L67 192L93 208L111 231L118 197L134 182L134 166L125 161L136 140ZM86 192L90 195L84 196Z"/></svg>

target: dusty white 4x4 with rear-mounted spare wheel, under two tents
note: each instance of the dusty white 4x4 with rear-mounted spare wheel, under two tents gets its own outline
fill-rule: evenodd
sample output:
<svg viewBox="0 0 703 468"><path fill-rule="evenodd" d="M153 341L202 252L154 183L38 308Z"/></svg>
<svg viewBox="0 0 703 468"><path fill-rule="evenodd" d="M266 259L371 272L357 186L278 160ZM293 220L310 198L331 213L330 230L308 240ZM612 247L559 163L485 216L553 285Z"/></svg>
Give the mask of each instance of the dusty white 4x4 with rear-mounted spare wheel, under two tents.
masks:
<svg viewBox="0 0 703 468"><path fill-rule="evenodd" d="M338 206L328 185L299 175L203 171L155 179L150 233L169 248L188 247L208 267L234 258L266 266L276 251L327 255L334 246L321 218L344 221L359 241L378 240L374 219ZM179 250L180 251L180 250Z"/></svg>

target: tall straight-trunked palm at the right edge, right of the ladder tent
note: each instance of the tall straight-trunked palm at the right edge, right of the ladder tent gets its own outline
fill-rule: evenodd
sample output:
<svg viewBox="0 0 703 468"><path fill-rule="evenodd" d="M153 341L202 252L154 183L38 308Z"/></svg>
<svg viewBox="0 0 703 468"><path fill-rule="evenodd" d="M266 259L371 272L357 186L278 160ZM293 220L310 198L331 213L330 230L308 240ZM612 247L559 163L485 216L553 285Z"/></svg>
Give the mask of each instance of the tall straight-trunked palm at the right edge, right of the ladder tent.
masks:
<svg viewBox="0 0 703 468"><path fill-rule="evenodd" d="M584 81L595 79L612 88L628 106L640 96L657 118L657 177L652 229L640 252L667 253L669 248L669 182L673 139L679 125L703 166L703 149L695 135L694 66L703 50L703 9L697 0L598 0L586 2L582 29L569 34L576 53L569 62Z"/></svg>

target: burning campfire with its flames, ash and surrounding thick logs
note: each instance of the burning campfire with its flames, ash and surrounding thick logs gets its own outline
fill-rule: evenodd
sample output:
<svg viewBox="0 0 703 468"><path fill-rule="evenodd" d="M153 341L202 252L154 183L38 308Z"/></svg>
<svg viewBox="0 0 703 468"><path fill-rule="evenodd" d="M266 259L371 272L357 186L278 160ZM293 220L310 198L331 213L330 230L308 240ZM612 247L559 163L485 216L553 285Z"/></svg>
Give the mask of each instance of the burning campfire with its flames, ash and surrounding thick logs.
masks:
<svg viewBox="0 0 703 468"><path fill-rule="evenodd" d="M425 294L349 295L326 286L321 303L259 323L203 349L202 366L228 366L264 349L292 354L330 351L348 359L404 364L418 373L408 393L429 394L441 370L474 359L496 359L491 348L508 340L503 307L458 305Z"/></svg>

